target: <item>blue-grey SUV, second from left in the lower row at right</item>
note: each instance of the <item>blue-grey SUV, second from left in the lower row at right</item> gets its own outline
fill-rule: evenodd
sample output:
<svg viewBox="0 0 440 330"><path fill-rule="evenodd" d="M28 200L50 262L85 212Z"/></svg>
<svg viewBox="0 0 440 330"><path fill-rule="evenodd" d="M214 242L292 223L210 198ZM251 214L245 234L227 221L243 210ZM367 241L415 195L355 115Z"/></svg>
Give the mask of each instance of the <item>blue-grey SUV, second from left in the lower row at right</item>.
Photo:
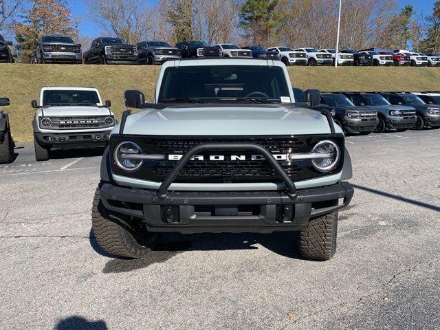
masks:
<svg viewBox="0 0 440 330"><path fill-rule="evenodd" d="M382 95L360 92L344 92L342 94L358 107L367 107L377 111L379 122L375 133L384 133L387 129L404 132L412 129L412 126L417 122L415 108L406 105L393 105Z"/></svg>

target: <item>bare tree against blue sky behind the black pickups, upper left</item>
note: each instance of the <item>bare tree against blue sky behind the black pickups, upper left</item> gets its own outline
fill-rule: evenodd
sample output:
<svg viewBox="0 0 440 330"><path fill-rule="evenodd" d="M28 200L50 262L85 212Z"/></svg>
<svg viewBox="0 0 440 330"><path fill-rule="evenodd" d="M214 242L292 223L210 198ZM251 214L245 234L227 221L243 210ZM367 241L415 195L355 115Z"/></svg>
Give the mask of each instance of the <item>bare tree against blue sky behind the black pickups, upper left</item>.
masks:
<svg viewBox="0 0 440 330"><path fill-rule="evenodd" d="M138 43L151 32L151 10L137 0L91 0L89 17L109 34Z"/></svg>

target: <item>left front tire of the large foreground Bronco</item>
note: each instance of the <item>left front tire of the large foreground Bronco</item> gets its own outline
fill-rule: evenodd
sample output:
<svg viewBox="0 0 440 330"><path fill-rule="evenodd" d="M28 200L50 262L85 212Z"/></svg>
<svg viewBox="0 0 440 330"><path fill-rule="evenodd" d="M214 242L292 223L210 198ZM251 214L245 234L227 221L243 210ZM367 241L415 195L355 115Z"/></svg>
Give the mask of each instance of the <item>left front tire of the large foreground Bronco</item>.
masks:
<svg viewBox="0 0 440 330"><path fill-rule="evenodd" d="M140 258L148 254L159 235L148 232L142 221L110 212L102 205L99 188L91 208L91 225L100 247L122 258Z"/></svg>

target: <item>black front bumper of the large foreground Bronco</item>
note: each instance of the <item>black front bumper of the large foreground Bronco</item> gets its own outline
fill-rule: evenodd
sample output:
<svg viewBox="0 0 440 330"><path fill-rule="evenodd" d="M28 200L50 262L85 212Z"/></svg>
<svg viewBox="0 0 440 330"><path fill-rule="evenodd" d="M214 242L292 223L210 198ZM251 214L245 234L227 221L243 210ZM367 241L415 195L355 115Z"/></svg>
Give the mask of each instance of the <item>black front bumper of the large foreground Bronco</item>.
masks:
<svg viewBox="0 0 440 330"><path fill-rule="evenodd" d="M300 230L314 217L347 206L353 187L347 182L285 192L169 192L104 183L105 208L143 219L151 232L260 232ZM339 202L339 203L338 203Z"/></svg>

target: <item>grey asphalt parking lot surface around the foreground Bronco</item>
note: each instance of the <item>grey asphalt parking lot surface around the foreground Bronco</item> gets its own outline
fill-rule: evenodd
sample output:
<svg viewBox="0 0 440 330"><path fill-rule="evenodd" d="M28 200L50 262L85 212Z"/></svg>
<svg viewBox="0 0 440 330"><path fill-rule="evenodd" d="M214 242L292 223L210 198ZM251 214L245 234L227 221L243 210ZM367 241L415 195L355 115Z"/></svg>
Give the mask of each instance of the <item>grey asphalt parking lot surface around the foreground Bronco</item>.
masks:
<svg viewBox="0 0 440 330"><path fill-rule="evenodd" d="M296 235L166 234L113 259L91 234L100 151L0 165L0 329L440 329L440 131L347 137L338 252Z"/></svg>

